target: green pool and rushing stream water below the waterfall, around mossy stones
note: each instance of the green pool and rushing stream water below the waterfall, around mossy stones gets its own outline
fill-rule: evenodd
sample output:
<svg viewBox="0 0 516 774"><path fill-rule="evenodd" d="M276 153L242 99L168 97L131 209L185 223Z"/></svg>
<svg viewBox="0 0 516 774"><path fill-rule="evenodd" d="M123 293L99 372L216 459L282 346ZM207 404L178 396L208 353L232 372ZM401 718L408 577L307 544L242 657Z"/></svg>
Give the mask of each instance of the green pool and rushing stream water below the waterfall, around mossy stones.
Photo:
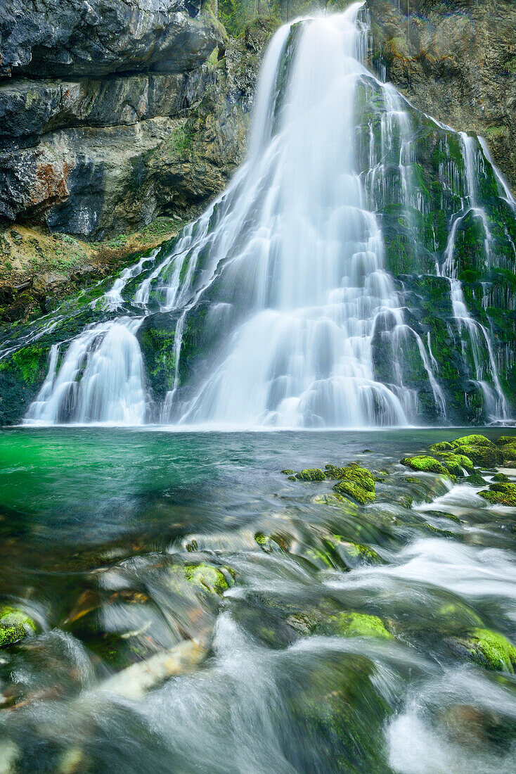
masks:
<svg viewBox="0 0 516 774"><path fill-rule="evenodd" d="M38 625L1 652L5 770L513 771L514 674L464 642L516 639L516 509L398 464L462 434L2 430L0 601ZM383 479L365 508L281 473L350 461ZM199 565L224 593L184 581ZM193 640L129 695L125 669Z"/></svg>

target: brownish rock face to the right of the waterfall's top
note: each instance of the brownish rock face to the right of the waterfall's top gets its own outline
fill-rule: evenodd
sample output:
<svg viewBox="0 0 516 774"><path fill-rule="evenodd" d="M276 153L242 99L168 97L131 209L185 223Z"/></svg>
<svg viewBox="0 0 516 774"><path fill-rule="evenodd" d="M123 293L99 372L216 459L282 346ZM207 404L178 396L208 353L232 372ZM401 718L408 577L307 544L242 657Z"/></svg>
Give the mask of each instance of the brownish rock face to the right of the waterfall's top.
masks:
<svg viewBox="0 0 516 774"><path fill-rule="evenodd" d="M367 0L367 7L371 66L416 108L459 131L483 135L514 189L514 2Z"/></svg>

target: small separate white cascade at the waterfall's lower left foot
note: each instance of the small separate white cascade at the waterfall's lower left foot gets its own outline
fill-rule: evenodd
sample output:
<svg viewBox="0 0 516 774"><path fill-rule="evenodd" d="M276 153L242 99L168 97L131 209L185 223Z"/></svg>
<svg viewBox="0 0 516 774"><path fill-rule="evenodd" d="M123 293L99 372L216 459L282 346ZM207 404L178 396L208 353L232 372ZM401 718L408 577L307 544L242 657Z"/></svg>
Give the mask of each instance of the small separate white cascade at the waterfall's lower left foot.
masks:
<svg viewBox="0 0 516 774"><path fill-rule="evenodd" d="M26 423L142 424L145 377L135 337L141 323L120 318L84 330L60 365L58 348L53 348L49 373Z"/></svg>

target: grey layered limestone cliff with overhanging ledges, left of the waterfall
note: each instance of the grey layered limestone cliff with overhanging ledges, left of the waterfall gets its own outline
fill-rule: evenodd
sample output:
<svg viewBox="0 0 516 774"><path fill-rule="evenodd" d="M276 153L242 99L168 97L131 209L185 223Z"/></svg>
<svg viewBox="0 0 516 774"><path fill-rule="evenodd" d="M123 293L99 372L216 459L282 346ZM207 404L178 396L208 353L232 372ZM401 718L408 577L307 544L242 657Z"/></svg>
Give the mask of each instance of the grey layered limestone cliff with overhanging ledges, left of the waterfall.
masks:
<svg viewBox="0 0 516 774"><path fill-rule="evenodd" d="M184 0L6 0L0 217L87 238L141 228L135 167L200 102L224 30Z"/></svg>

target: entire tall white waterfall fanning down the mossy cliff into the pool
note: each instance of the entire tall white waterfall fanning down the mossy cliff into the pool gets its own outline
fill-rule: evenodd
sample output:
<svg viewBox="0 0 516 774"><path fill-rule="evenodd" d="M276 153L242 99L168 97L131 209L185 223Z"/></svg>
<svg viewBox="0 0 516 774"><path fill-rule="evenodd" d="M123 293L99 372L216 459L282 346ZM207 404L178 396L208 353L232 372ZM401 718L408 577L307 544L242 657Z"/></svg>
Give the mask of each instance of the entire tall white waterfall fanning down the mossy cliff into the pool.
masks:
<svg viewBox="0 0 516 774"><path fill-rule="evenodd" d="M54 354L27 421L400 426L424 413L423 399L430 416L446 421L436 341L405 312L404 283L391 273L386 211L398 212L417 246L432 210L414 111L367 70L366 53L361 3L279 29L262 67L248 161L168 253L126 269L97 302L111 317L124 307L123 315L88 326L60 364ZM458 136L432 127L441 144L445 129ZM468 211L484 225L492 259L475 193L480 156L490 161L473 142L460 135L463 170L440 167L444 193L465 193L442 261L433 233L430 265L449 278L482 410L505 419L488 330L468 313L454 268ZM510 204L507 187L500 196ZM138 344L156 310L169 331L159 395L145 392Z"/></svg>

